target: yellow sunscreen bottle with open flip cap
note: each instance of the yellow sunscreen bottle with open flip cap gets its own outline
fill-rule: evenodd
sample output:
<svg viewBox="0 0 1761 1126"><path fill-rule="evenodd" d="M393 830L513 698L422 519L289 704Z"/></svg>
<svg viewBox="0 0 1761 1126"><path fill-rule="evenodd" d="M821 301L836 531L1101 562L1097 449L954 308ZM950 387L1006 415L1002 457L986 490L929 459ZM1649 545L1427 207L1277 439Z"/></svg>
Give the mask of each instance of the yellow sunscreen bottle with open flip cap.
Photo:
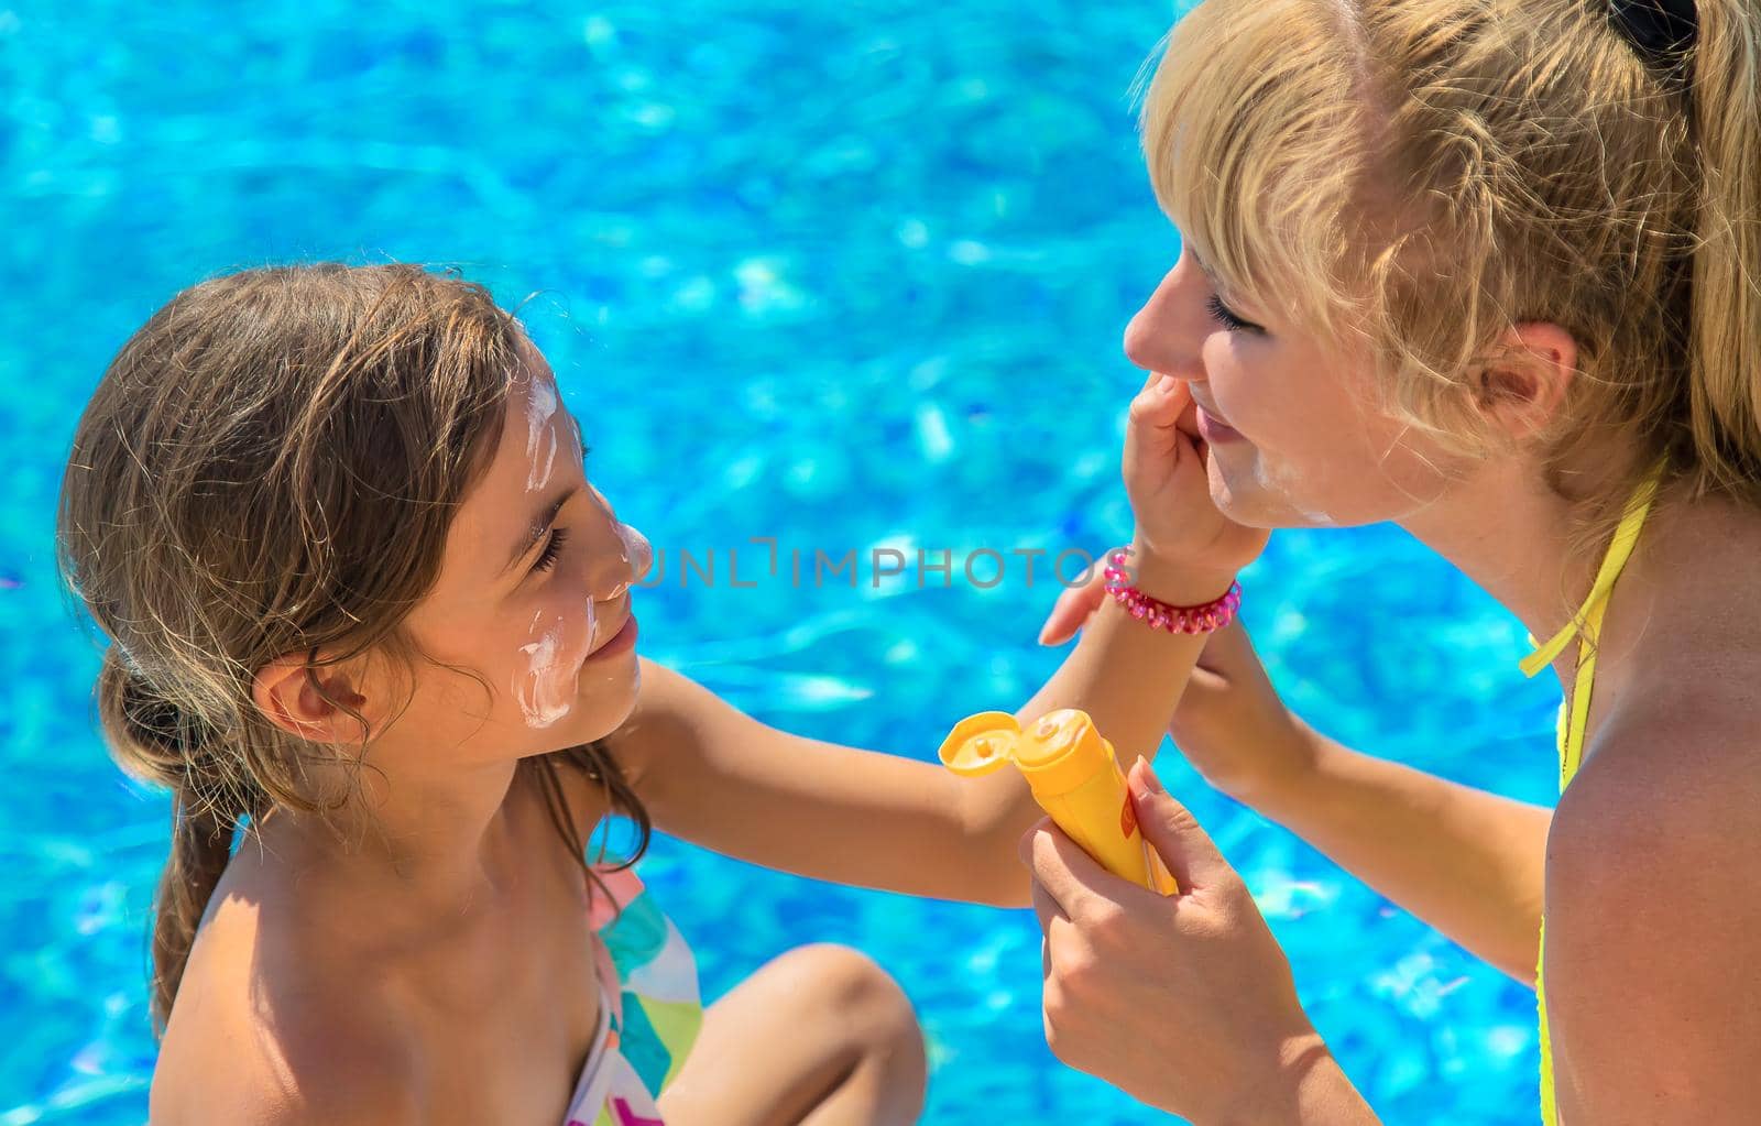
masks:
<svg viewBox="0 0 1761 1126"><path fill-rule="evenodd" d="M1007 712L981 712L954 726L940 756L963 777L1014 763L1041 809L1104 869L1162 895L1178 890L1138 832L1138 811L1113 744L1101 738L1085 712L1048 712L1027 731Z"/></svg>

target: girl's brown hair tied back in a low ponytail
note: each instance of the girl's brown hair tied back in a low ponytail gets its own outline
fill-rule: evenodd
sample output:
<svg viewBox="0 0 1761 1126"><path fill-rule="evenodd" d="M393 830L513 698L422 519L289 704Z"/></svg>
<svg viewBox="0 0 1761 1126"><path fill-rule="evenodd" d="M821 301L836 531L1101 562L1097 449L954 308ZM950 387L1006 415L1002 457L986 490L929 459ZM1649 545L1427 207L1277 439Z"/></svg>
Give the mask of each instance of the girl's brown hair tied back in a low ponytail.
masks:
<svg viewBox="0 0 1761 1126"><path fill-rule="evenodd" d="M109 640L106 742L173 796L160 1027L239 828L275 807L324 812L319 765L370 767L365 721L357 747L303 742L257 710L255 673L287 654L424 659L402 626L495 455L521 340L486 289L417 266L248 270L153 314L79 419L62 573ZM606 788L639 855L646 812L602 745L525 759L583 865L558 768Z"/></svg>

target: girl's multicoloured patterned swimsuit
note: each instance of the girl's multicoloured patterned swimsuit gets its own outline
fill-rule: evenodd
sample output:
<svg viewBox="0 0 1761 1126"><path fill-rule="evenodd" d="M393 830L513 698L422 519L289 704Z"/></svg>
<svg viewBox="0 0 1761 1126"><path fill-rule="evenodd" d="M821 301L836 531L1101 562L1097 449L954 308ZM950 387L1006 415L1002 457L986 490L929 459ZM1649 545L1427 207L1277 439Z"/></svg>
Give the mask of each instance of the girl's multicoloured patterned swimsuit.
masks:
<svg viewBox="0 0 1761 1126"><path fill-rule="evenodd" d="M662 1126L655 1096L703 1027L697 964L636 872L595 869L599 1031L569 1098L565 1126Z"/></svg>

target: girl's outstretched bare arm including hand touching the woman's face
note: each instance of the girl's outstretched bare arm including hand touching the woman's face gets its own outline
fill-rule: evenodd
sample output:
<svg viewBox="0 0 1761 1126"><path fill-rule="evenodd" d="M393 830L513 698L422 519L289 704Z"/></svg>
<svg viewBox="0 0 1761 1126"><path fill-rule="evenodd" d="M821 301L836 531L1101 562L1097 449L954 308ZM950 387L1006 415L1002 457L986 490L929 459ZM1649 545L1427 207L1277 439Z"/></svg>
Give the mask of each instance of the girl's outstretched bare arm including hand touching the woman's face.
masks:
<svg viewBox="0 0 1761 1126"><path fill-rule="evenodd" d="M1125 428L1134 580L1180 606L1220 597L1266 544L1263 530L1231 523L1212 504L1194 414L1183 382L1152 375ZM1199 648L1201 638L1152 629L1108 601L1018 717L1083 708L1129 765L1155 752ZM974 700L970 712L986 707ZM942 719L951 728L963 715ZM939 765L798 738L659 666L646 666L615 747L655 823L717 851L838 883L1028 902L1014 846L1039 811L1013 770L967 781Z"/></svg>

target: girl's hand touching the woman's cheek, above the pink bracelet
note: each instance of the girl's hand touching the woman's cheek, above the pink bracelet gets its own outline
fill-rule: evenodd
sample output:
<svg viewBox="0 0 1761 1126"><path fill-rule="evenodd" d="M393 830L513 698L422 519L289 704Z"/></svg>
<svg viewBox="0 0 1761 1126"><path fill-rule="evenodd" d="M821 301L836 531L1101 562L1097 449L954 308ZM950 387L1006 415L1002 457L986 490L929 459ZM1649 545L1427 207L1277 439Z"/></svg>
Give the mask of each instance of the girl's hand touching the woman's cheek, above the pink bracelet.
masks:
<svg viewBox="0 0 1761 1126"><path fill-rule="evenodd" d="M1138 520L1136 550L1194 573L1234 574L1270 532L1234 523L1210 499L1210 449L1183 379L1152 374L1131 402L1125 493Z"/></svg>

